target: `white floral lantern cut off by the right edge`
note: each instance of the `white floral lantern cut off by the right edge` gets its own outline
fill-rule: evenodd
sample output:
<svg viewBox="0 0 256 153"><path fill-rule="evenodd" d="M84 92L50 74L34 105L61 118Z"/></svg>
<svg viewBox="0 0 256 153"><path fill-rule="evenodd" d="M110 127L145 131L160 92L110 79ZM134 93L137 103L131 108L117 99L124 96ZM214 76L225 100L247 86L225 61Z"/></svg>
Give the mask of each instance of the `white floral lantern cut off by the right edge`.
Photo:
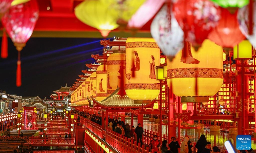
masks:
<svg viewBox="0 0 256 153"><path fill-rule="evenodd" d="M239 23L239 28L241 32L244 34L244 36L251 42L252 45L256 45L256 3L253 3L253 18L252 22L254 23L252 25L252 33L249 33L249 27L250 27L250 22L249 22L249 9L247 6L244 6L243 8L238 9L237 13L237 20Z"/></svg>

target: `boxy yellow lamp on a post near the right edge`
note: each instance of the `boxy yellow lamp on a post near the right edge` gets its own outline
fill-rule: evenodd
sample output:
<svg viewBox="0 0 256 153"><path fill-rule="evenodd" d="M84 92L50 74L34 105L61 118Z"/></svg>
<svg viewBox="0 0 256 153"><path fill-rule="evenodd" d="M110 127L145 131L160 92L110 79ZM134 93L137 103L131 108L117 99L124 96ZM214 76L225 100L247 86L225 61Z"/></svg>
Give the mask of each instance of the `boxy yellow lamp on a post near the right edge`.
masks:
<svg viewBox="0 0 256 153"><path fill-rule="evenodd" d="M252 44L249 40L243 40L238 45L234 46L234 60L252 59Z"/></svg>

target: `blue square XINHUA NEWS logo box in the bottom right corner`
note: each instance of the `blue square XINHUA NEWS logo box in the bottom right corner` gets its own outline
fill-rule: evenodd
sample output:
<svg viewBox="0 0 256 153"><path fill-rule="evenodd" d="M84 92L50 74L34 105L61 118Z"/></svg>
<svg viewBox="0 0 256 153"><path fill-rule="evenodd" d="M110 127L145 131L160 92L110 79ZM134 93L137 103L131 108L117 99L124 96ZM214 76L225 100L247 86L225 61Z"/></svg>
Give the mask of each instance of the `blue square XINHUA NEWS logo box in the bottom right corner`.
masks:
<svg viewBox="0 0 256 153"><path fill-rule="evenodd" d="M252 148L251 135L237 135L236 136L236 149L237 150L250 150Z"/></svg>

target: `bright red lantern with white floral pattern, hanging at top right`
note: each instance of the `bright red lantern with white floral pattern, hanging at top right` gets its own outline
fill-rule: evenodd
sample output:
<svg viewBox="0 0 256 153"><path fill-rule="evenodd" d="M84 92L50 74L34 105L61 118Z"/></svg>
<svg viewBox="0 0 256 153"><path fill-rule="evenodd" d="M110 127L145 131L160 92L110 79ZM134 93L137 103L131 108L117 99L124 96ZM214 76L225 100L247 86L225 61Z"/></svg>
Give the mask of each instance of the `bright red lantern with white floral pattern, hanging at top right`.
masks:
<svg viewBox="0 0 256 153"><path fill-rule="evenodd" d="M196 50L207 39L220 19L220 8L208 0L179 0L174 3L173 12L185 39Z"/></svg>

